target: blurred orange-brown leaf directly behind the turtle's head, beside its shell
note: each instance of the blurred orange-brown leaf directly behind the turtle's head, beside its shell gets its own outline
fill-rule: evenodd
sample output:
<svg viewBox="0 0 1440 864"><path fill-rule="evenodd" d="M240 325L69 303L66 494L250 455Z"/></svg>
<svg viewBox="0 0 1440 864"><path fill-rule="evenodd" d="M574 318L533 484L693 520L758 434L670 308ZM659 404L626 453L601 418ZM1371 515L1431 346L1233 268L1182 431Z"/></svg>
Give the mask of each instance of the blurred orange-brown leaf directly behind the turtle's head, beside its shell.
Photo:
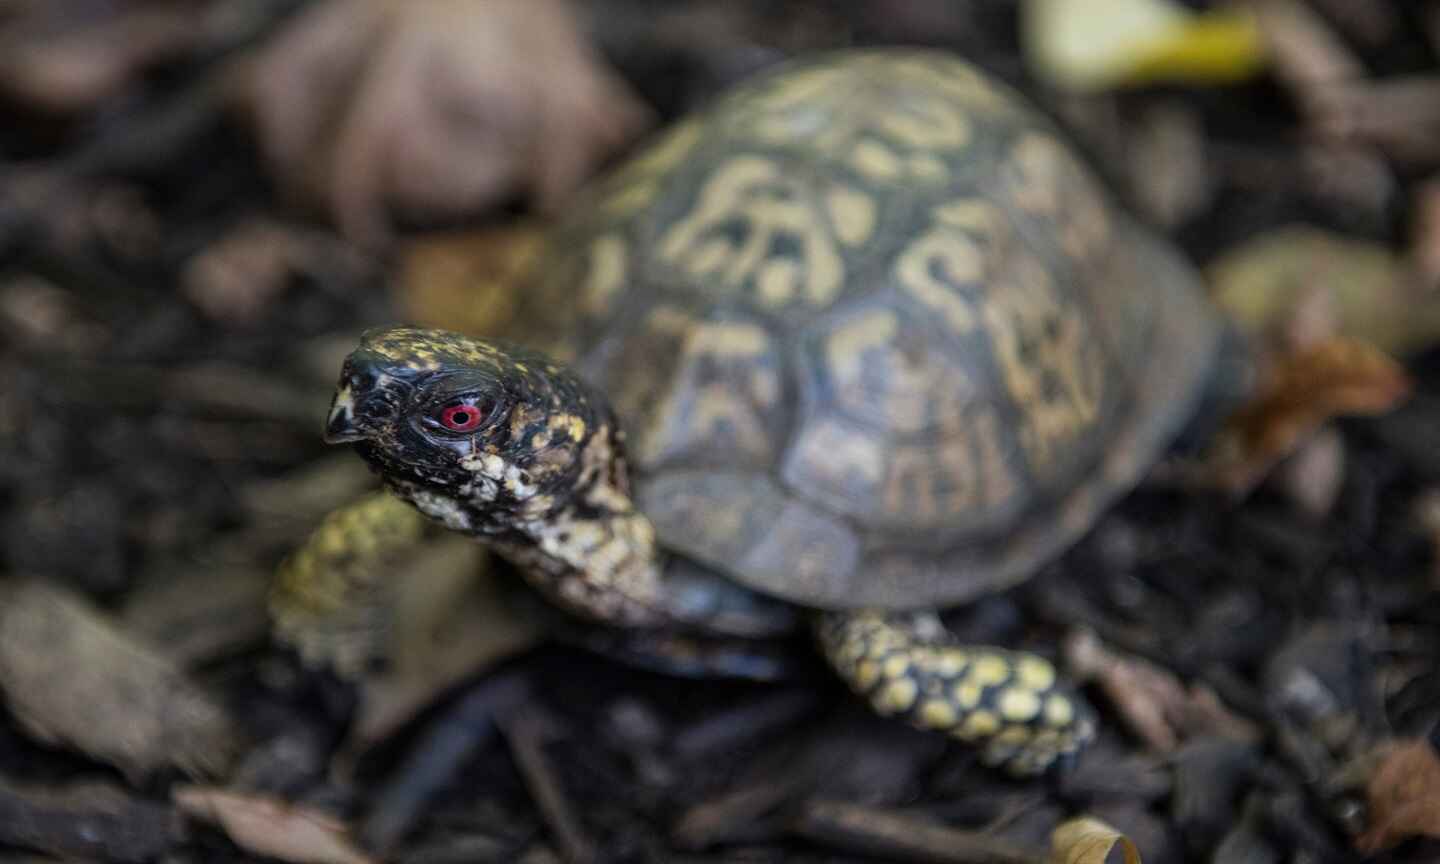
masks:
<svg viewBox="0 0 1440 864"><path fill-rule="evenodd" d="M397 285L405 320L478 336L505 333L543 239L544 226L521 222L406 243Z"/></svg>

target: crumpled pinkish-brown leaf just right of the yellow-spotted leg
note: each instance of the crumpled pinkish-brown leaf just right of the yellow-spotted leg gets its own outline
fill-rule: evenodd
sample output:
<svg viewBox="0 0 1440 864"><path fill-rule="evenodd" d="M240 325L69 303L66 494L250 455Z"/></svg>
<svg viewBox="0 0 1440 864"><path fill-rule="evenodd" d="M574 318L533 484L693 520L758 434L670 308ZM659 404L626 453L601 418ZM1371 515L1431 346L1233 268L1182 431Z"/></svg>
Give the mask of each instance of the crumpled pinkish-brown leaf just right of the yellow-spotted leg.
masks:
<svg viewBox="0 0 1440 864"><path fill-rule="evenodd" d="M1130 732L1156 752L1169 753L1198 734L1260 737L1253 723L1227 708L1208 687L1187 687L1168 670L1110 649L1093 632L1067 638L1064 655L1076 678L1096 681Z"/></svg>

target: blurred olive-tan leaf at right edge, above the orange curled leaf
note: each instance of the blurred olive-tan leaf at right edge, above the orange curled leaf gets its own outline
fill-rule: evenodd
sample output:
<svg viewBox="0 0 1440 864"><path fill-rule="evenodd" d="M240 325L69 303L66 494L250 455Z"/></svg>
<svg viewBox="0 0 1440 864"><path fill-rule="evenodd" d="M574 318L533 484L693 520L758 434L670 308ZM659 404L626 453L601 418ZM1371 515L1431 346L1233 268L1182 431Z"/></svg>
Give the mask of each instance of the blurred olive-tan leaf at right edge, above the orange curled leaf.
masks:
<svg viewBox="0 0 1440 864"><path fill-rule="evenodd" d="M1228 249L1207 278L1217 305L1256 337L1290 327L1305 295L1325 294L1338 336L1400 356L1440 341L1440 292L1380 243L1289 226Z"/></svg>

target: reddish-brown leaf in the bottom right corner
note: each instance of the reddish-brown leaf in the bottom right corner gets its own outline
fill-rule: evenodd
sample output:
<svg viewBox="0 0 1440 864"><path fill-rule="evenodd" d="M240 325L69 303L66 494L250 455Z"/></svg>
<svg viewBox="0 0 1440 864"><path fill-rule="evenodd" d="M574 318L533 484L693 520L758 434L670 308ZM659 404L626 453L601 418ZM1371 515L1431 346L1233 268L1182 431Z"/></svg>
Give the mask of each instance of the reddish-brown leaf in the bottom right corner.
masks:
<svg viewBox="0 0 1440 864"><path fill-rule="evenodd" d="M1369 825L1355 838L1364 854L1378 852L1410 837L1440 838L1440 759L1424 740L1387 746L1365 785Z"/></svg>

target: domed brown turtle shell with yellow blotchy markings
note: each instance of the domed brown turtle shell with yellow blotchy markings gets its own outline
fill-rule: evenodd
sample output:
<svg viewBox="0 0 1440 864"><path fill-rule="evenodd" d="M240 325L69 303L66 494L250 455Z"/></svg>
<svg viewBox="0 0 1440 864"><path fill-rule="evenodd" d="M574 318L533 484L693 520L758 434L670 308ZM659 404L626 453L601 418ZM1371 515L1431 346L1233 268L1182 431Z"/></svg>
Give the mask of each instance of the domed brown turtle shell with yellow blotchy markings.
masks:
<svg viewBox="0 0 1440 864"><path fill-rule="evenodd" d="M743 84L541 261L507 336L609 395L661 541L819 608L1031 575L1168 445L1218 341L1056 128L929 50Z"/></svg>

